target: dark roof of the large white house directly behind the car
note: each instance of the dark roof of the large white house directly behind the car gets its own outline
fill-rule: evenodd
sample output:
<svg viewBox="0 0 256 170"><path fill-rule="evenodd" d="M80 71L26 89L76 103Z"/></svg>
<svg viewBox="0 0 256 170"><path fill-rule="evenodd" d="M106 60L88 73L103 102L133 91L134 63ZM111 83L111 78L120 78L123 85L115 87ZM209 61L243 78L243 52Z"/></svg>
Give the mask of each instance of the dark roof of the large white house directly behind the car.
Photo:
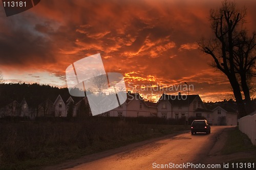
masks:
<svg viewBox="0 0 256 170"><path fill-rule="evenodd" d="M172 105L190 105L197 95L169 95L163 94L159 100L168 100ZM200 98L200 97L199 97Z"/></svg>

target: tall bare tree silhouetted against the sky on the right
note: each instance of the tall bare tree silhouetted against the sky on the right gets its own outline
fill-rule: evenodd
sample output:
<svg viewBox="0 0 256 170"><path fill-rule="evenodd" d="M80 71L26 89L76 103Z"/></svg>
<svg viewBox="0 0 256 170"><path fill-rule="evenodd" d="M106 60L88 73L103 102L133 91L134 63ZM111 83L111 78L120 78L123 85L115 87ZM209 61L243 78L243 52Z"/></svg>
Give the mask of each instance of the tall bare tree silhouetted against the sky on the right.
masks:
<svg viewBox="0 0 256 170"><path fill-rule="evenodd" d="M246 35L243 28L245 16L245 8L238 9L234 2L224 1L219 10L210 11L209 20L214 37L207 41L202 38L198 42L200 50L214 59L212 66L228 78L240 117L247 114L241 90L248 95L246 98L250 101L250 93L246 88L248 78L253 75L252 68L255 67L255 59L251 57L255 46L254 35L252 38Z"/></svg>

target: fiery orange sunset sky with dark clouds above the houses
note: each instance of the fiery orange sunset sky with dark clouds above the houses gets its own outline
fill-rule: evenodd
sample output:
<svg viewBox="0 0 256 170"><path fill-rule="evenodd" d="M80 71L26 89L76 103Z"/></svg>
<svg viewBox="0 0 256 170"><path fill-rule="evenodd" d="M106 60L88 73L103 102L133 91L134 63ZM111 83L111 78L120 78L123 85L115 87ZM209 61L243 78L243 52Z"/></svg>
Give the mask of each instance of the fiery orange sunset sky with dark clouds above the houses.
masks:
<svg viewBox="0 0 256 170"><path fill-rule="evenodd" d="M237 3L247 7L246 26L255 31L256 1ZM127 90L143 96L157 98L166 87L173 87L167 93L187 94L187 82L193 85L189 94L204 101L229 99L228 81L196 43L211 36L207 16L220 6L216 0L41 0L6 17L1 4L0 70L6 83L65 87L71 63L100 53L106 72L120 72Z"/></svg>

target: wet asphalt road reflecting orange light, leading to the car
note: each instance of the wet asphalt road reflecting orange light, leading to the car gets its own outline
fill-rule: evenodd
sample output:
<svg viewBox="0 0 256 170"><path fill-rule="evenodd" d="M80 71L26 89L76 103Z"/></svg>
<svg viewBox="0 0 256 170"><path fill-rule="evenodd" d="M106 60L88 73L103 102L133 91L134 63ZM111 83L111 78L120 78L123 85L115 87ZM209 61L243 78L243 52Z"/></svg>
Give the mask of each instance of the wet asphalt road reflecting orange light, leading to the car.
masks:
<svg viewBox="0 0 256 170"><path fill-rule="evenodd" d="M211 134L199 133L191 135L190 132L161 140L149 142L137 147L126 148L125 151L102 157L97 160L82 163L68 169L198 169L190 167L175 167L174 164L202 163L210 153L218 151L223 147L224 142L217 142L221 139L221 133L230 126L212 126ZM216 143L219 143L216 145ZM216 151L216 152L217 152ZM174 163L174 164L173 164ZM161 164L168 164L169 167L161 168ZM160 167L160 168L157 168Z"/></svg>

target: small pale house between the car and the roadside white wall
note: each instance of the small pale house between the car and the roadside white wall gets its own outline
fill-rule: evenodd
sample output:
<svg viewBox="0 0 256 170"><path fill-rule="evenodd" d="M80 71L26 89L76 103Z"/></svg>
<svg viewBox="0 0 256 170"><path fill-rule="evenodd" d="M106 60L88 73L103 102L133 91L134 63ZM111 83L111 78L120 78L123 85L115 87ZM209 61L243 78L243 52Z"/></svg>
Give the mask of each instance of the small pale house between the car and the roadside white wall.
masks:
<svg viewBox="0 0 256 170"><path fill-rule="evenodd" d="M218 106L212 109L211 122L212 125L237 126L237 111L226 106Z"/></svg>

